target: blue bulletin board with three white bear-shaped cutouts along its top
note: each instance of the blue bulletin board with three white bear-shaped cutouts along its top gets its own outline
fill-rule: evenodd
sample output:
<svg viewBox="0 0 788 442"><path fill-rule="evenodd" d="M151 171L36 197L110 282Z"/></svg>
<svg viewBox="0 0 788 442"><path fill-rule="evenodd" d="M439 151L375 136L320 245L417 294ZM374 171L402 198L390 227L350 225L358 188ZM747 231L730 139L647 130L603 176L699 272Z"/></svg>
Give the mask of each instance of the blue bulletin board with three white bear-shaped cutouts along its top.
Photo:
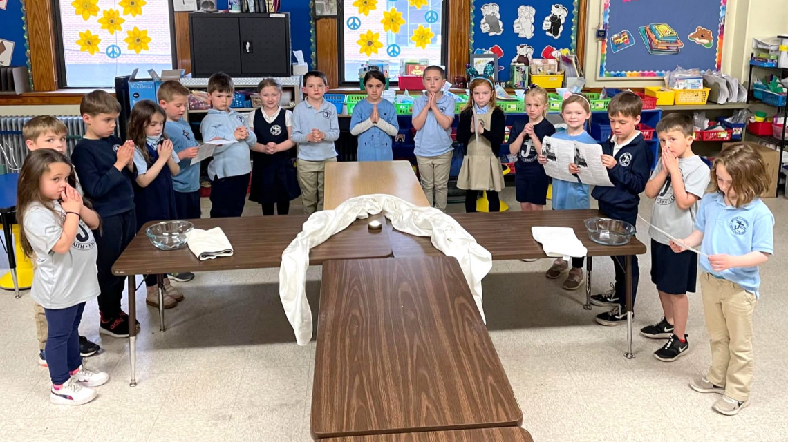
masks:
<svg viewBox="0 0 788 442"><path fill-rule="evenodd" d="M498 54L498 81L507 81L518 58L574 53L577 16L577 0L474 0L470 50Z"/></svg>

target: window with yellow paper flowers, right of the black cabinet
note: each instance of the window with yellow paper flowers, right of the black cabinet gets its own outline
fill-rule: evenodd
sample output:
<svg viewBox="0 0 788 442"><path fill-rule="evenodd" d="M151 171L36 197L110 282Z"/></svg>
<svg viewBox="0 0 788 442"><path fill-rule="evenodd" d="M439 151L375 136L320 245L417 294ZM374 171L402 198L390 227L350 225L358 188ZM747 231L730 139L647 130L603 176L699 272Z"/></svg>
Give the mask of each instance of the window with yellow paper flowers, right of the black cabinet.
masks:
<svg viewBox="0 0 788 442"><path fill-rule="evenodd" d="M345 83L358 84L359 67L370 59L388 61L392 80L400 75L400 58L445 65L443 0L341 1L340 76ZM364 51L365 45L370 50Z"/></svg>

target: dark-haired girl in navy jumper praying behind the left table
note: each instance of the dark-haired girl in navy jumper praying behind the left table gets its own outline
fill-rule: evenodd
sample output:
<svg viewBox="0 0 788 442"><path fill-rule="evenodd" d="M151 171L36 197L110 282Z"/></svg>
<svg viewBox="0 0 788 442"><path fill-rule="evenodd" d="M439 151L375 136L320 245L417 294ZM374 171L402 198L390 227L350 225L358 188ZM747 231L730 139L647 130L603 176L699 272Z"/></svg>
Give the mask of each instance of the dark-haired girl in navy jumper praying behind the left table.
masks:
<svg viewBox="0 0 788 442"><path fill-rule="evenodd" d="M136 183L134 204L137 226L142 228L149 221L177 219L173 176L180 171L178 157L173 151L173 142L164 135L167 115L158 104L143 100L134 105L128 121L128 137L134 141L134 165ZM164 308L177 306L184 295L174 288L166 275L148 275L146 303L158 307L157 279L164 283Z"/></svg>

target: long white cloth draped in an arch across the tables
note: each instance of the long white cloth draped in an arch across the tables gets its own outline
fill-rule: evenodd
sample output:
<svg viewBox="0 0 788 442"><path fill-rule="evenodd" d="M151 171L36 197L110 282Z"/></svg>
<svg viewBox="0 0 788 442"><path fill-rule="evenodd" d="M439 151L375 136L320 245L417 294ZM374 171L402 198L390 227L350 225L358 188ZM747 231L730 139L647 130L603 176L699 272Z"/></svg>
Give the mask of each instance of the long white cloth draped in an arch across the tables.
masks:
<svg viewBox="0 0 788 442"><path fill-rule="evenodd" d="M312 338L312 311L305 290L310 249L347 228L356 218L380 213L400 232L430 236L433 246L459 261L481 319L485 319L481 308L481 279L492 269L492 254L454 218L440 210L414 206L392 195L363 195L348 199L334 210L312 214L303 223L303 230L296 239L284 249L279 269L279 297L299 345L307 345Z"/></svg>

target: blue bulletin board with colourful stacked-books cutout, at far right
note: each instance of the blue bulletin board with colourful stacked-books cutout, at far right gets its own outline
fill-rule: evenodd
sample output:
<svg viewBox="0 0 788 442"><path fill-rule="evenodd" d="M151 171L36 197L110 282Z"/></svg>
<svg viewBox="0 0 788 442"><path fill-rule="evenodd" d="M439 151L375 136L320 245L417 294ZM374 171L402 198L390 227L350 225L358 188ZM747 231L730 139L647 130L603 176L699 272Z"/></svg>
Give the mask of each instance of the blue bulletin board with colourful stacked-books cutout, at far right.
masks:
<svg viewBox="0 0 788 442"><path fill-rule="evenodd" d="M599 77L722 65L727 0L604 0Z"/></svg>

